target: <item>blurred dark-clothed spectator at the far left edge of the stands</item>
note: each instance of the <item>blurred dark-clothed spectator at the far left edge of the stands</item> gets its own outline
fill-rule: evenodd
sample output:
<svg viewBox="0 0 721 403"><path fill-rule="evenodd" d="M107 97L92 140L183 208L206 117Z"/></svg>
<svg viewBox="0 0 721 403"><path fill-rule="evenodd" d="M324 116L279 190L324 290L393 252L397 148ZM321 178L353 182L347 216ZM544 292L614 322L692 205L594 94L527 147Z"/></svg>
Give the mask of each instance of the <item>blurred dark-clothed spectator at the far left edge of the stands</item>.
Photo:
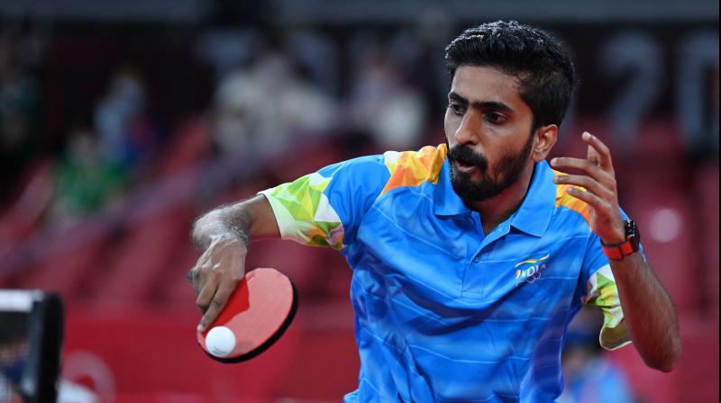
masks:
<svg viewBox="0 0 721 403"><path fill-rule="evenodd" d="M15 35L0 32L0 201L10 195L40 143L39 88L23 65L22 47Z"/></svg>

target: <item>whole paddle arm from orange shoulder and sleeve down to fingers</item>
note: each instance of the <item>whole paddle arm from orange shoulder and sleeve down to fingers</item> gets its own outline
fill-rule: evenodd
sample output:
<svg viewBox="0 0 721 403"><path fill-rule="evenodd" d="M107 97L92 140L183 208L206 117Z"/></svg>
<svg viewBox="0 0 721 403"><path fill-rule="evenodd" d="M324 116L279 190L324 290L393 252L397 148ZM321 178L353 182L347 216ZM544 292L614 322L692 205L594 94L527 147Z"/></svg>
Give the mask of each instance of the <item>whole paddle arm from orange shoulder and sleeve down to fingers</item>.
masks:
<svg viewBox="0 0 721 403"><path fill-rule="evenodd" d="M444 148L439 152L428 147L343 161L197 219L193 242L205 251L193 269L196 303L204 312L201 331L213 323L242 280L251 238L282 237L341 250L353 242L359 223L388 184L392 170L402 168L397 186L406 185L407 175L417 181L424 173L437 173L444 157Z"/></svg>

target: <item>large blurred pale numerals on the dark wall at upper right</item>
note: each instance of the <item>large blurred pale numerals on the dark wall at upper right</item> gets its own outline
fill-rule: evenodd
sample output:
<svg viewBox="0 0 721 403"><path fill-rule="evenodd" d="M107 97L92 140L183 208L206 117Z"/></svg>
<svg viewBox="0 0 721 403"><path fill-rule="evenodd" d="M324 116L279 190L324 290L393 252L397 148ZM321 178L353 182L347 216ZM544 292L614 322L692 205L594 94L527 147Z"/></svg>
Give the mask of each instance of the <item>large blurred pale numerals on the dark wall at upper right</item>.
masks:
<svg viewBox="0 0 721 403"><path fill-rule="evenodd" d="M691 32L674 49L662 49L660 39L649 33L624 31L608 40L600 55L603 73L624 79L609 112L617 144L633 147L640 124L655 106L666 103L661 106L675 111L669 117L678 122L687 152L718 149L717 32ZM675 66L664 64L670 57ZM664 66L675 69L675 76ZM675 97L662 99L663 88L672 78Z"/></svg>

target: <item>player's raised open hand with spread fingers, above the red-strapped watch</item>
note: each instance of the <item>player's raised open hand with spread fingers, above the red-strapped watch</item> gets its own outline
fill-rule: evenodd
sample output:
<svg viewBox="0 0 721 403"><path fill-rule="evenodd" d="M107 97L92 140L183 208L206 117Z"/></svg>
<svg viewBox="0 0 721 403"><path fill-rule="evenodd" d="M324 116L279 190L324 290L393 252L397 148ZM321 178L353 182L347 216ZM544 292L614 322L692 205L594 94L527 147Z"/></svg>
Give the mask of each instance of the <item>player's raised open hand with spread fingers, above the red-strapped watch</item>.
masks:
<svg viewBox="0 0 721 403"><path fill-rule="evenodd" d="M583 133L581 139L589 145L586 159L557 157L551 160L551 166L560 171L578 169L585 175L556 175L553 182L570 184L566 193L589 204L589 225L604 244L621 244L625 242L625 230L618 208L616 174L611 162L611 152L600 139L588 131Z"/></svg>

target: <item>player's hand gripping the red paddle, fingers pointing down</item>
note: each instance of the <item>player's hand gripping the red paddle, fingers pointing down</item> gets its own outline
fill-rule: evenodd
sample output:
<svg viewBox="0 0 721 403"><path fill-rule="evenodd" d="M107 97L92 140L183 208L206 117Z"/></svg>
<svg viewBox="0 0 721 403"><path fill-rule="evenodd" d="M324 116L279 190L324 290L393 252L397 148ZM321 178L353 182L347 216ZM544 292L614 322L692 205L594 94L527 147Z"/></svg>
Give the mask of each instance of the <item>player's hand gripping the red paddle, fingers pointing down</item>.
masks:
<svg viewBox="0 0 721 403"><path fill-rule="evenodd" d="M197 260L193 273L196 304L203 312L197 330L208 327L230 298L245 275L245 255L248 247L232 235L214 237Z"/></svg>

